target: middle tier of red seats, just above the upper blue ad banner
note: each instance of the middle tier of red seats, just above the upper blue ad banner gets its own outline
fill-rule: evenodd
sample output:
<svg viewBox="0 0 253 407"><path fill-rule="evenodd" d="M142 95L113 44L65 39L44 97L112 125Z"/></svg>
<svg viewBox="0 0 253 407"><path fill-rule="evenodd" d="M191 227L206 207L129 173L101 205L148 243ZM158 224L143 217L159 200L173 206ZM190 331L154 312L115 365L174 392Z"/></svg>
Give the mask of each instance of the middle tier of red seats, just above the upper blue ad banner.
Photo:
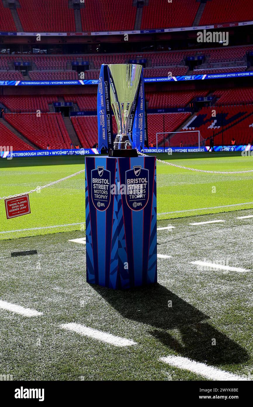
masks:
<svg viewBox="0 0 253 407"><path fill-rule="evenodd" d="M73 61L87 61L89 68L84 71L81 79L98 79L102 63L126 63L129 59L142 58L147 60L144 77L167 77L168 75L207 74L222 72L243 72L252 70L247 62L250 46L233 46L226 48L209 48L201 50L204 56L202 64L189 71L187 57L196 56L196 50L164 51L128 54L88 54L88 55L0 55L0 80L22 80L21 71L14 70L14 62L29 63L26 74L32 81L37 80L73 80L80 79L76 68L71 69ZM171 73L170 73L171 72Z"/></svg>

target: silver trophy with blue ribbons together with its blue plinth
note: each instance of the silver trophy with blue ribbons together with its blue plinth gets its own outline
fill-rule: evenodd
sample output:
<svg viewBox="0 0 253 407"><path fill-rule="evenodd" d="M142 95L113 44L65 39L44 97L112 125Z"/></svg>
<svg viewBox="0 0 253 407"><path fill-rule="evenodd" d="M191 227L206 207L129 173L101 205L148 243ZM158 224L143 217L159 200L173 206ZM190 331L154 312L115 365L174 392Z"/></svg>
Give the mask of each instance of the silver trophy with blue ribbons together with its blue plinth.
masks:
<svg viewBox="0 0 253 407"><path fill-rule="evenodd" d="M147 145L141 65L102 65L97 119L98 151L109 154L85 158L87 282L113 289L155 283L156 158L137 153Z"/></svg>

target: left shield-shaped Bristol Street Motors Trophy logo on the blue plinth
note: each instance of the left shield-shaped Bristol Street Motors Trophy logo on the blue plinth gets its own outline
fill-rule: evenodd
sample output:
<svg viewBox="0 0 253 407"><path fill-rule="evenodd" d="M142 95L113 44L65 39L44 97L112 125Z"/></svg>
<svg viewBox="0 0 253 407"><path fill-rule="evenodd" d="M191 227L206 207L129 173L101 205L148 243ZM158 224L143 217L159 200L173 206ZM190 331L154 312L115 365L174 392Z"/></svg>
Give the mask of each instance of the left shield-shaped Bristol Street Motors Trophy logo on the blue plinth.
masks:
<svg viewBox="0 0 253 407"><path fill-rule="evenodd" d="M97 210L106 210L110 205L110 171L97 167L91 171L91 197Z"/></svg>

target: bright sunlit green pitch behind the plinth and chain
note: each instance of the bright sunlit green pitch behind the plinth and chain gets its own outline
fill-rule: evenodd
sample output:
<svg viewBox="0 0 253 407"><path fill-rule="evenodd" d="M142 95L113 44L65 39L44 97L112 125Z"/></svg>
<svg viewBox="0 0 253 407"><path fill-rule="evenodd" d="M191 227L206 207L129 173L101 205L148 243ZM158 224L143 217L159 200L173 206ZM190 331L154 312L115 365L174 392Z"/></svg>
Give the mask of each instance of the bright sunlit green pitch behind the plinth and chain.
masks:
<svg viewBox="0 0 253 407"><path fill-rule="evenodd" d="M175 153L160 154L158 158L205 170L244 171L253 168L253 157L242 157L240 153ZM79 156L32 160L2 159L0 197L26 193L82 169L84 158ZM233 175L199 173L157 162L158 219L252 208L252 191L253 173ZM243 205L227 206L233 204ZM215 208L217 206L225 207ZM21 230L0 233L0 239L80 230L84 227L80 224L85 221L84 173L45 188L40 193L32 193L30 207L31 214L7 220L4 200L0 201L0 232ZM70 225L73 223L78 225ZM58 227L48 228L48 226Z"/></svg>

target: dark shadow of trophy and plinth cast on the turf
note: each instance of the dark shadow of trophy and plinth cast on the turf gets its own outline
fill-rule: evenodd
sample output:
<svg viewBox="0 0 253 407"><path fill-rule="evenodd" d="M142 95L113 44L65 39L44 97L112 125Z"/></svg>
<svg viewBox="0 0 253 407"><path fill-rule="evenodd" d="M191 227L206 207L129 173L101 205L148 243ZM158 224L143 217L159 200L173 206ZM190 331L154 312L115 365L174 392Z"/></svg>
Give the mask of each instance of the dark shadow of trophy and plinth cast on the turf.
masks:
<svg viewBox="0 0 253 407"><path fill-rule="evenodd" d="M244 348L206 322L207 315L160 284L127 291L91 287L124 318L149 325L149 334L184 357L212 365L249 359ZM174 328L179 330L180 342L168 332ZM213 338L215 346L212 346Z"/></svg>

